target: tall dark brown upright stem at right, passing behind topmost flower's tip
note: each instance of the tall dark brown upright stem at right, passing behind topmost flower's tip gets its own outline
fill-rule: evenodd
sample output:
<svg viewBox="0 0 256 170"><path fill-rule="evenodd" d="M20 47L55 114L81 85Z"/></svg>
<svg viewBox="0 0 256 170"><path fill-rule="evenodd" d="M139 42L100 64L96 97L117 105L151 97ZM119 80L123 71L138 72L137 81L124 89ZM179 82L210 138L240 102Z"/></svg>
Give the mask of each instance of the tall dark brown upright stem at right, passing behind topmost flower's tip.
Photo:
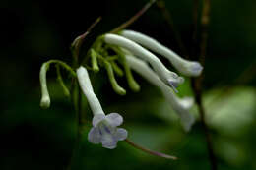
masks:
<svg viewBox="0 0 256 170"><path fill-rule="evenodd" d="M197 22L197 10L198 10L198 1L194 0L195 7L194 7L194 22ZM196 7L197 6L197 7ZM208 39L208 28L209 28L209 20L210 20L210 7L211 3L210 0L203 0L203 9L202 9L202 16L201 16L201 34L200 34L200 41L197 43L199 45L199 52L196 52L196 56L199 56L199 61L200 63L204 66L205 64L205 55L206 55L206 48L207 48L207 39ZM197 23L194 23L197 25ZM195 30L197 30L197 26L195 27ZM195 32L196 33L196 32ZM197 42L196 36L195 42ZM196 46L197 47L197 46ZM194 49L196 50L196 49ZM196 50L197 51L197 50ZM192 54L193 55L193 54ZM217 170L217 159L214 153L214 147L213 147L213 142L211 139L210 131L206 123L206 118L205 118L205 109L202 103L202 82L203 82L203 75L200 76L199 78L192 79L192 88L195 93L195 98L196 98L196 103L198 105L199 109L199 114L201 118L201 123L202 127L204 129L205 137L206 137L206 142L207 142L207 148L208 148L208 154L209 154L209 160L211 163L211 169L212 170Z"/></svg>

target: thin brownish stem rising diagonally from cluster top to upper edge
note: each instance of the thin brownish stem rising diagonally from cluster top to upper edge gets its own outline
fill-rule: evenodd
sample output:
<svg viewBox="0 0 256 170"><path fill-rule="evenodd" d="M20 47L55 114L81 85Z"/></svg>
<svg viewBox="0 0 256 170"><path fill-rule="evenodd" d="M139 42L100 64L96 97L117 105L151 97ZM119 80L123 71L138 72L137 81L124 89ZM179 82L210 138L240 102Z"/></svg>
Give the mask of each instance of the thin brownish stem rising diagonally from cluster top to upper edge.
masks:
<svg viewBox="0 0 256 170"><path fill-rule="evenodd" d="M131 24L133 24L136 20L138 20L157 0L150 0L138 13L136 13L133 17L131 17L128 21L123 23L117 28L114 28L110 31L110 33L117 33L118 31L127 28Z"/></svg>

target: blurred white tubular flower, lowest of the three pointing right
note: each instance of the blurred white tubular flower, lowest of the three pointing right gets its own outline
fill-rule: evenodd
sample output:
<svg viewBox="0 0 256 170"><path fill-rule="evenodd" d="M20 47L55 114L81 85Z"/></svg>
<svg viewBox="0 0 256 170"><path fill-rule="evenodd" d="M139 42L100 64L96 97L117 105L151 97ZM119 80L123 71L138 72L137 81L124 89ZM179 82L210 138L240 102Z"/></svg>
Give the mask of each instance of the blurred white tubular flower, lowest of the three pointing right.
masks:
<svg viewBox="0 0 256 170"><path fill-rule="evenodd" d="M132 55L126 55L126 60L134 71L148 80L151 84L160 87L162 94L180 117L184 130L189 131L195 122L195 118L189 113L189 109L193 105L193 99L190 97L182 99L178 98L172 90L170 90L169 86L160 81L159 76L144 61Z"/></svg>

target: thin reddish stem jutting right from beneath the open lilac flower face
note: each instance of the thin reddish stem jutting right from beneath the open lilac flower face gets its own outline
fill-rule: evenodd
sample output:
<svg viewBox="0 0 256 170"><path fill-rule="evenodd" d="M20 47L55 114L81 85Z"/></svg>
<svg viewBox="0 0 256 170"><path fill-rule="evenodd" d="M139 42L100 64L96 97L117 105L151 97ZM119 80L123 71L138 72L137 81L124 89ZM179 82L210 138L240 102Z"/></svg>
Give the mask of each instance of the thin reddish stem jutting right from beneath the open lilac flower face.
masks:
<svg viewBox="0 0 256 170"><path fill-rule="evenodd" d="M133 147L135 147L137 149L140 149L140 150L142 150L142 151L144 151L146 153L152 154L154 156L159 156L159 157L163 157L163 158L166 158L166 159L177 160L177 157L175 157L175 156L164 154L164 153L160 153L158 151L150 150L150 149L145 148L145 147L143 147L141 145L138 145L135 142L132 142L132 141L130 141L128 139L126 139L125 142L127 142L128 144L132 145Z"/></svg>

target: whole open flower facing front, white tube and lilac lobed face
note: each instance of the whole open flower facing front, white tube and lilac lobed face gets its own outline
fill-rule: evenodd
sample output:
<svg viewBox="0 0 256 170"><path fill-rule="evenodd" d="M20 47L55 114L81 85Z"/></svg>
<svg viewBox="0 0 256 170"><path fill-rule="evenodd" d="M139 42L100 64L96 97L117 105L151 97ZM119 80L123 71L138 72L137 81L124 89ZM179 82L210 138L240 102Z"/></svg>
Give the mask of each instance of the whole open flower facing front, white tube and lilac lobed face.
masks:
<svg viewBox="0 0 256 170"><path fill-rule="evenodd" d="M115 148L118 141L127 138L127 131L117 128L123 122L123 118L118 113L104 114L102 107L96 97L87 70L84 67L77 69L79 85L86 95L89 105L93 111L93 128L88 134L88 140L93 143L102 143L105 148Z"/></svg>

